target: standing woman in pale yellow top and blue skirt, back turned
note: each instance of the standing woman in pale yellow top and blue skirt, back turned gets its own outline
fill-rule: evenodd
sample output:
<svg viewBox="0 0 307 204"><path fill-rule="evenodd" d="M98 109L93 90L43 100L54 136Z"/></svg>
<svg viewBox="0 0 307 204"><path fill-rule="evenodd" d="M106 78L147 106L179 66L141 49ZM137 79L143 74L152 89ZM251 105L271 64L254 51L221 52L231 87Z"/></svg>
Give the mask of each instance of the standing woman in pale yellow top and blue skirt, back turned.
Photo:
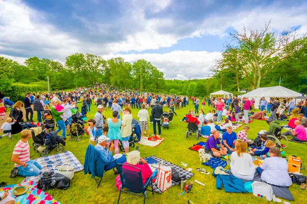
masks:
<svg viewBox="0 0 307 204"><path fill-rule="evenodd" d="M145 105L145 104L142 104ZM131 126L132 126L132 115L131 109L128 107L123 108L123 121L122 121L122 128L121 128L121 135L122 135L122 145L124 147L125 153L129 152L129 138L132 134Z"/></svg>

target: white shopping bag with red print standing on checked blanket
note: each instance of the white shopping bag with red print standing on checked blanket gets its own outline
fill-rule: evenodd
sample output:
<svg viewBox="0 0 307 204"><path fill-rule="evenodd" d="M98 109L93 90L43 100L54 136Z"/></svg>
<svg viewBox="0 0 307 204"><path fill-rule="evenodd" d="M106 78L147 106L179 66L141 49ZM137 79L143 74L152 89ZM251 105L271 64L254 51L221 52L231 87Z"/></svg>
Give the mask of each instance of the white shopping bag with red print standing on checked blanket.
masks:
<svg viewBox="0 0 307 204"><path fill-rule="evenodd" d="M157 187L162 191L166 191L171 187L171 168L160 166L158 170L158 185Z"/></svg>

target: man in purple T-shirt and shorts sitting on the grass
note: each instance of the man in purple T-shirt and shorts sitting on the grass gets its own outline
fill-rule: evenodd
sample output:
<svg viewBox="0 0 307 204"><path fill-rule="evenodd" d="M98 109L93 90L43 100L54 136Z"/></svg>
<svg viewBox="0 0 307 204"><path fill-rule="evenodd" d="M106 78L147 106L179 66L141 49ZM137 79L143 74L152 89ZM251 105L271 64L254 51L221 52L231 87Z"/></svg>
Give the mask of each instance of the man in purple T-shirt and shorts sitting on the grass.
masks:
<svg viewBox="0 0 307 204"><path fill-rule="evenodd" d="M227 149L221 144L218 138L220 138L220 132L214 130L213 135L206 141L205 151L207 154L214 157L221 157L227 154ZM219 145L220 148L217 148L217 145Z"/></svg>

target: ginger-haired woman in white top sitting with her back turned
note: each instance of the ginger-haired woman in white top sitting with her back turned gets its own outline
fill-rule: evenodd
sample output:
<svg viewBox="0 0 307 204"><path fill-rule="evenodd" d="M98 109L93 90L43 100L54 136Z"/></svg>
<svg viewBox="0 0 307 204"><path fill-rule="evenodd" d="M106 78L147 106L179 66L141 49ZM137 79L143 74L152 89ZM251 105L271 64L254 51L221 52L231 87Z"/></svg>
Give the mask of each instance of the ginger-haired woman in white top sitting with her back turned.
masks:
<svg viewBox="0 0 307 204"><path fill-rule="evenodd" d="M252 156L246 151L247 144L244 141L239 141L235 152L231 154L231 173L237 177L246 180L252 180L255 174L255 165L253 164Z"/></svg>

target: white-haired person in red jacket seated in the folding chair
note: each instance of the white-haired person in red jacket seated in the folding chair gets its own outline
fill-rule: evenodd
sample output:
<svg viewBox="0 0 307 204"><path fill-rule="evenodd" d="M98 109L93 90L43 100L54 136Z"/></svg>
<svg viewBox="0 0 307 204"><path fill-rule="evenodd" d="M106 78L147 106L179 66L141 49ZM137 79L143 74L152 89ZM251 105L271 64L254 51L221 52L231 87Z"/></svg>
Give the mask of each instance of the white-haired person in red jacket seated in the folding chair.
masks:
<svg viewBox="0 0 307 204"><path fill-rule="evenodd" d="M139 162L142 162L142 165ZM151 176L152 172L147 162L141 158L139 151L132 151L127 153L127 161L124 163L125 165L131 165L141 170L143 185L146 180ZM134 168L123 166L123 169L134 171Z"/></svg>

